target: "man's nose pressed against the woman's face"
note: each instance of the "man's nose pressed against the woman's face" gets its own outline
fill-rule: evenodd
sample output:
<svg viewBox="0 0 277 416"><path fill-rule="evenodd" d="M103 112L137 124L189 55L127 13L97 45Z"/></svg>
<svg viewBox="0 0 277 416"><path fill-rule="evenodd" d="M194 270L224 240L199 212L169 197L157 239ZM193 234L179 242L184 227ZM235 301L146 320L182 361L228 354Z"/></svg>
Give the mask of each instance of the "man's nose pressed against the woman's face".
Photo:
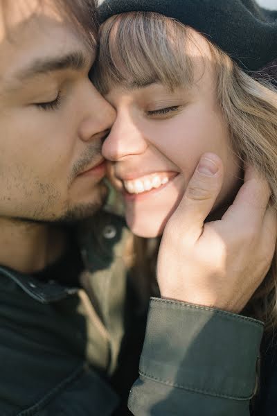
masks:
<svg viewBox="0 0 277 416"><path fill-rule="evenodd" d="M107 134L116 119L116 111L89 80L80 105L84 108L84 116L78 129L80 139L91 141L94 137Z"/></svg>

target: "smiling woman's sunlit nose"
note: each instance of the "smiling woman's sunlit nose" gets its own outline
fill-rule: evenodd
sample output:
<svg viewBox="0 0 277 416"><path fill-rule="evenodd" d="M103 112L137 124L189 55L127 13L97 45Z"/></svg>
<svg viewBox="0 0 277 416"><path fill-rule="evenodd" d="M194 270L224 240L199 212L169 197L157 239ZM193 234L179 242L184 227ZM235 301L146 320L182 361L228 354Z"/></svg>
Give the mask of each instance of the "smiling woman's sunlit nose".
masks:
<svg viewBox="0 0 277 416"><path fill-rule="evenodd" d="M141 155L148 142L143 136L139 126L126 112L118 112L116 121L102 146L102 155L113 162L129 155Z"/></svg>

